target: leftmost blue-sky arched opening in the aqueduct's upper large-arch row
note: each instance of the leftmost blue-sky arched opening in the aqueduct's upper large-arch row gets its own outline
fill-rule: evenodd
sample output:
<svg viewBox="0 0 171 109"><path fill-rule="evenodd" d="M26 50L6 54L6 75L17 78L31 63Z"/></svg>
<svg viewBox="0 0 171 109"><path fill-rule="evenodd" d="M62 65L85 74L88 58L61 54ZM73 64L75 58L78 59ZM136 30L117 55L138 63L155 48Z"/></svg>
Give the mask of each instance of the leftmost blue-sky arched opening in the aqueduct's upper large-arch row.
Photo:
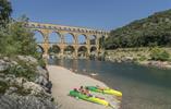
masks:
<svg viewBox="0 0 171 109"><path fill-rule="evenodd" d="M34 31L34 38L37 44L42 44L44 43L44 35L39 31Z"/></svg>

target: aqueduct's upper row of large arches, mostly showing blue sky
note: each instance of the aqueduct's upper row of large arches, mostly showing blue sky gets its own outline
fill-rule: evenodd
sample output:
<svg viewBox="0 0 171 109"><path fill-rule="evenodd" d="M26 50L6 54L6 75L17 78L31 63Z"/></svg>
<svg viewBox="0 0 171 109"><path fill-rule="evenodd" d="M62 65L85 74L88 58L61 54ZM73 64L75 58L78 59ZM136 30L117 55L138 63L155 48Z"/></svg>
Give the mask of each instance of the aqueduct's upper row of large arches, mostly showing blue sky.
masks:
<svg viewBox="0 0 171 109"><path fill-rule="evenodd" d="M98 37L96 35L73 34L50 32L45 34L41 31L33 29L36 43L41 44L48 40L49 44L66 44L66 45L97 45Z"/></svg>

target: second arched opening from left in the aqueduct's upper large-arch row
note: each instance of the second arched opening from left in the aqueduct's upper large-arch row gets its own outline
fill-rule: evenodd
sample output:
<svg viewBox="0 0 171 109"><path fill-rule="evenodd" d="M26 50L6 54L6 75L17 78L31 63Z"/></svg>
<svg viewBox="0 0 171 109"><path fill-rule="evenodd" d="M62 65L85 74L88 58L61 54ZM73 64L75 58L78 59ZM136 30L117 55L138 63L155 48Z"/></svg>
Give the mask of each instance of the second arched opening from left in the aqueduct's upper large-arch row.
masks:
<svg viewBox="0 0 171 109"><path fill-rule="evenodd" d="M49 34L49 43L50 44L60 44L61 43L61 36L57 32L52 32Z"/></svg>

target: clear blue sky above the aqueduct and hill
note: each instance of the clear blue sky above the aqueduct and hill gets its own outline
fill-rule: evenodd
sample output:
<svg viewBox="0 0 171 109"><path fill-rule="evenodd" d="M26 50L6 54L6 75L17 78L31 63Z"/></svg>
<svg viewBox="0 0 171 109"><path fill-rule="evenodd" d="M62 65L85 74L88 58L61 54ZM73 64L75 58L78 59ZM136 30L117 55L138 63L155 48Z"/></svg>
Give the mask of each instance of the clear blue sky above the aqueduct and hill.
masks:
<svg viewBox="0 0 171 109"><path fill-rule="evenodd" d="M171 0L11 0L13 17L33 22L114 29L154 12L171 9Z"/></svg>

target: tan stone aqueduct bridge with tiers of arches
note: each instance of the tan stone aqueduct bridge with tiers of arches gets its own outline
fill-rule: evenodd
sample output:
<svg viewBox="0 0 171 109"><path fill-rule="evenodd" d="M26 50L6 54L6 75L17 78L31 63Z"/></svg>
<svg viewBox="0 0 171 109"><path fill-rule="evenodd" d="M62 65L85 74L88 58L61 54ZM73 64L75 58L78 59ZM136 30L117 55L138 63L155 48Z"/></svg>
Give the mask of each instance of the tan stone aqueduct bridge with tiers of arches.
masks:
<svg viewBox="0 0 171 109"><path fill-rule="evenodd" d="M28 22L26 27L30 28L32 31L38 31L42 35L44 41L39 43L38 46L41 47L45 56L48 56L48 50L53 45L56 45L60 48L61 56L64 55L64 49L68 46L72 46L74 48L75 58L77 58L80 47L86 47L87 56L90 55L90 49L94 47L94 48L96 48L96 55L98 55L98 52L100 52L99 38L100 37L107 38L108 34L109 34L108 32L105 32L105 31L97 31L97 29L85 28L85 27L44 24L44 23L35 23L35 22ZM60 43L50 44L49 35L51 33L57 33L60 36ZM74 39L73 44L69 45L69 44L64 43L65 34L71 34L73 36L73 39ZM85 44L78 44L80 35L85 36L85 39L86 39ZM95 36L95 45L90 45L90 36Z"/></svg>

